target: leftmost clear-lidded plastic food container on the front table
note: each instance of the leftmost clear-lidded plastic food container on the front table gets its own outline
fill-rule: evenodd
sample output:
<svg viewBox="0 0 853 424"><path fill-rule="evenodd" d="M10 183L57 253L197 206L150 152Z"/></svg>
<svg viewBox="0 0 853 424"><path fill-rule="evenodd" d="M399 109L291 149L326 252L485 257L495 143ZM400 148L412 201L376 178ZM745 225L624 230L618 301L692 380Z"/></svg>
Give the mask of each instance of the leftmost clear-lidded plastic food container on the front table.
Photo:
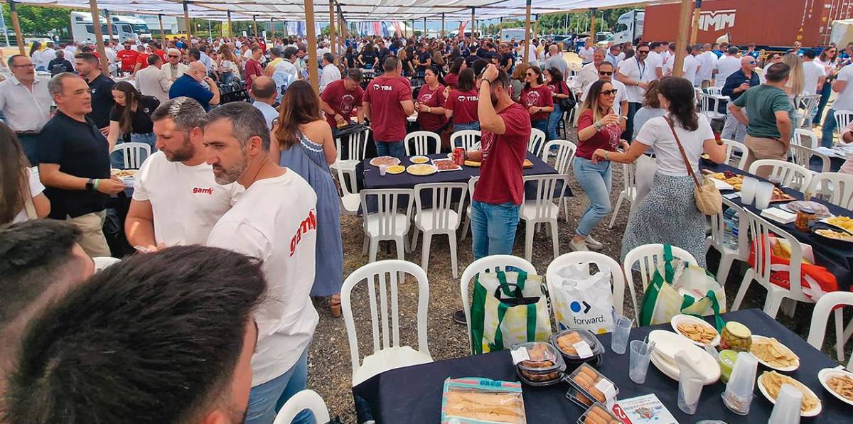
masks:
<svg viewBox="0 0 853 424"><path fill-rule="evenodd" d="M560 352L542 341L521 343L511 349L515 372L529 386L550 386L562 381L566 363Z"/></svg>

